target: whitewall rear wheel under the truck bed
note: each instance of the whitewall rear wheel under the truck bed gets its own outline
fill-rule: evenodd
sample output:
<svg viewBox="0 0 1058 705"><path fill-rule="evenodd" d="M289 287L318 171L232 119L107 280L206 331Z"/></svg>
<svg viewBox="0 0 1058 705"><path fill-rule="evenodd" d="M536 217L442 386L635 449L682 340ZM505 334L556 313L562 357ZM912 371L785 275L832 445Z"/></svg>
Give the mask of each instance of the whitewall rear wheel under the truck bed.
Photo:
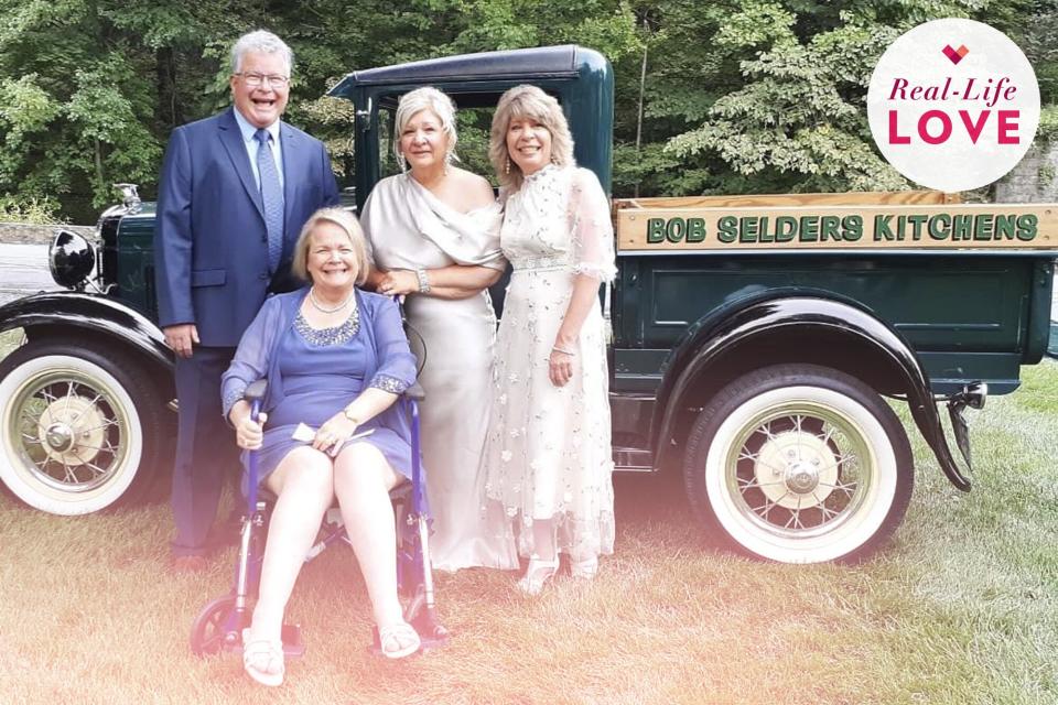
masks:
<svg viewBox="0 0 1058 705"><path fill-rule="evenodd" d="M857 561L899 525L914 463L873 389L838 370L778 365L713 397L691 430L683 477L706 530L741 552Z"/></svg>

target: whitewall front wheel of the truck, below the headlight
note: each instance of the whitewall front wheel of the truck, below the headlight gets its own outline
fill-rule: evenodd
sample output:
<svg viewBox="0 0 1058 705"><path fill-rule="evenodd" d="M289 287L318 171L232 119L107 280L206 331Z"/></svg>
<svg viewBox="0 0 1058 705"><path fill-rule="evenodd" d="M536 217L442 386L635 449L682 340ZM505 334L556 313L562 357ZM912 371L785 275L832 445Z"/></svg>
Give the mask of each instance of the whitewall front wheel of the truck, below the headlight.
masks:
<svg viewBox="0 0 1058 705"><path fill-rule="evenodd" d="M164 429L153 389L112 349L57 340L18 348L0 361L0 480L53 514L141 498Z"/></svg>

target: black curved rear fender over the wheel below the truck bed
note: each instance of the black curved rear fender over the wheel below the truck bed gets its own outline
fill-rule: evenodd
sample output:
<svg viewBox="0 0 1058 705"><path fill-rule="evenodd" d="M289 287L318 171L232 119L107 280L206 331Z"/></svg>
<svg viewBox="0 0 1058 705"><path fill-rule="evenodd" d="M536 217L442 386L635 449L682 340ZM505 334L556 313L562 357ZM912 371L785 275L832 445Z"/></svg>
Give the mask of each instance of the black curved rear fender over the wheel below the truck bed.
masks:
<svg viewBox="0 0 1058 705"><path fill-rule="evenodd" d="M680 400L692 382L725 355L751 340L797 326L817 329L871 348L884 359L907 395L915 424L937 457L944 475L958 489L970 490L970 480L959 469L944 437L929 377L910 344L870 311L850 302L823 296L779 295L727 308L726 315L710 315L695 325L666 365L658 390L654 429L655 447L665 447L676 435Z"/></svg>

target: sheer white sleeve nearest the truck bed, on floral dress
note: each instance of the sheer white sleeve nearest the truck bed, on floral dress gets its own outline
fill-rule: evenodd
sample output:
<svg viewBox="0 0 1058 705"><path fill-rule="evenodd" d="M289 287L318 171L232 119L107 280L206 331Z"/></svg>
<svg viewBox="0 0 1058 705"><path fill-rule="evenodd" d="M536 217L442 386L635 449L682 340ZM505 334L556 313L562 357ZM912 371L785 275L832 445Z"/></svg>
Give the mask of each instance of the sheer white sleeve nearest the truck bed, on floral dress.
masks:
<svg viewBox="0 0 1058 705"><path fill-rule="evenodd" d="M617 268L614 264L614 226L609 219L609 199L594 172L586 169L577 169L573 174L570 221L574 271L604 283L613 281Z"/></svg>

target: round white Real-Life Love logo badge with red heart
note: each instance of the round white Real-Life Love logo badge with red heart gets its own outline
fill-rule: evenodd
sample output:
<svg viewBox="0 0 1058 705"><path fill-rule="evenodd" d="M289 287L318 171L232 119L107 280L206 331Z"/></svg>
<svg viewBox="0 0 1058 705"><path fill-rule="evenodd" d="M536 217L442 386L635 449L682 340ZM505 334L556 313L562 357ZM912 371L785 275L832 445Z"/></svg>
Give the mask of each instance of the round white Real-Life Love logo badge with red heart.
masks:
<svg viewBox="0 0 1058 705"><path fill-rule="evenodd" d="M938 191L986 186L1025 156L1039 126L1039 86L1022 50L973 20L905 32L867 90L871 133L910 181Z"/></svg>

